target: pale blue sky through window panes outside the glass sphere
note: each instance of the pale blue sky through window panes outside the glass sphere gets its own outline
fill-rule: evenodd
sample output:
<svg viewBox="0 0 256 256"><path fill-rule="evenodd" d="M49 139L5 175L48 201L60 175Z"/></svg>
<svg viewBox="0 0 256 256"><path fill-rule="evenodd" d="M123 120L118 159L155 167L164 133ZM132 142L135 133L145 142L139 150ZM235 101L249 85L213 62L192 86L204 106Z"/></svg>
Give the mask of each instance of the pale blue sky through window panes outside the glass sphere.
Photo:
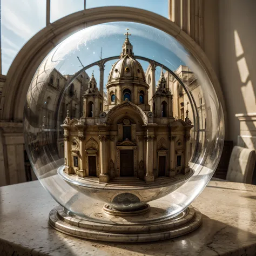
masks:
<svg viewBox="0 0 256 256"><path fill-rule="evenodd" d="M12 60L22 46L39 30L46 20L46 0L0 0L2 73L6 75ZM168 16L168 0L130 0L129 6ZM86 0L86 8L107 5L127 6L119 0ZM84 0L51 0L51 22L84 8Z"/></svg>

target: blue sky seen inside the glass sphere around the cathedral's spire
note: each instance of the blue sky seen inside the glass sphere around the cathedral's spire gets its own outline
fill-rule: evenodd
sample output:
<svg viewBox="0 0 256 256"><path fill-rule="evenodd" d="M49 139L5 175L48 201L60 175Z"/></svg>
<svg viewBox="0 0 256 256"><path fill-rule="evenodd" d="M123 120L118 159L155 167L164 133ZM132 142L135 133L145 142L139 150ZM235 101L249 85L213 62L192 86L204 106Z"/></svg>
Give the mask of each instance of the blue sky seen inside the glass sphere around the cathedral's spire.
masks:
<svg viewBox="0 0 256 256"><path fill-rule="evenodd" d="M186 62L187 51L167 33L139 23L110 22L74 33L53 49L42 65L47 68L48 72L55 68L63 75L73 75L82 69L77 57L84 66L87 66L100 59L101 49L102 58L119 56L122 52L126 28L130 29L131 36L129 38L133 45L134 55L156 60L173 71ZM114 62L116 60L111 60L105 65L104 84L107 82L107 76ZM139 62L144 70L149 66L147 62L142 60ZM99 67L93 66L87 69L86 72L89 76L91 76L92 70L94 70L98 82ZM159 76L160 67L156 70L156 80L159 79Z"/></svg>

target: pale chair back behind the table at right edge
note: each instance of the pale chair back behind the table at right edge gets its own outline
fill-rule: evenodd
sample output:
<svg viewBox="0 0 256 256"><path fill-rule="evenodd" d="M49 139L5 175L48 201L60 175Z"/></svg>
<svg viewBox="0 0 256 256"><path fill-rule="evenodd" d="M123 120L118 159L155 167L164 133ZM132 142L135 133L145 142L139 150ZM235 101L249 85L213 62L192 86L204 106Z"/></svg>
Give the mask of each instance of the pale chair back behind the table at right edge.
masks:
<svg viewBox="0 0 256 256"><path fill-rule="evenodd" d="M212 178L212 180L252 184L255 161L256 153L254 150L234 146L228 163L226 179Z"/></svg>

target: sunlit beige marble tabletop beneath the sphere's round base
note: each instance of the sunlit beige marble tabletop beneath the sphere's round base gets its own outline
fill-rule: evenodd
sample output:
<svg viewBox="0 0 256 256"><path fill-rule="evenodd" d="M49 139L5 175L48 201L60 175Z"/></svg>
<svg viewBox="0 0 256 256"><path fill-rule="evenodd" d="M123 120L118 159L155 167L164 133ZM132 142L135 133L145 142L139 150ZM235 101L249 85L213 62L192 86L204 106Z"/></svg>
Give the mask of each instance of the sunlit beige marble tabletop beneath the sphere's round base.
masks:
<svg viewBox="0 0 256 256"><path fill-rule="evenodd" d="M150 244L72 238L53 230L57 205L39 181L0 187L0 255L255 255L256 186L210 181L193 202L203 213L194 232Z"/></svg>

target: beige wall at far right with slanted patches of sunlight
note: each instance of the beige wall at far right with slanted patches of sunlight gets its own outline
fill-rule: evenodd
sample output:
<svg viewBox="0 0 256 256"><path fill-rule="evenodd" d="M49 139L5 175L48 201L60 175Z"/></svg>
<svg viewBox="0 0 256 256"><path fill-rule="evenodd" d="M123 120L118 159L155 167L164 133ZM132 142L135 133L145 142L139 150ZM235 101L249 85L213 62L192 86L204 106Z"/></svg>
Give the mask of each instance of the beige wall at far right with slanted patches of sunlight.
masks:
<svg viewBox="0 0 256 256"><path fill-rule="evenodd" d="M227 100L227 139L237 142L241 129L235 114L256 112L256 2L224 0L219 2L219 8L220 77ZM250 123L248 130L255 131Z"/></svg>

